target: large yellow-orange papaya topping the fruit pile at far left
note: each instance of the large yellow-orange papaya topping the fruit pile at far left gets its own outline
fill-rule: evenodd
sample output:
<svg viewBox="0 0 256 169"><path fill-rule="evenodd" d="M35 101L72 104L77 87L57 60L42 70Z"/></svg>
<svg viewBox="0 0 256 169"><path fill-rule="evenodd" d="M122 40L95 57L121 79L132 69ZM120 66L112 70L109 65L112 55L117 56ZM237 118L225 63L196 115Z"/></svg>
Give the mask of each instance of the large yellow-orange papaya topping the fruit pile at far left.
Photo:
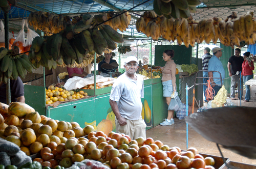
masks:
<svg viewBox="0 0 256 169"><path fill-rule="evenodd" d="M11 115L15 115L17 117L23 118L26 115L30 114L30 112L34 112L35 109L29 106L26 103L22 102L13 102L9 105L8 111ZM40 123L40 122L39 122Z"/></svg>

